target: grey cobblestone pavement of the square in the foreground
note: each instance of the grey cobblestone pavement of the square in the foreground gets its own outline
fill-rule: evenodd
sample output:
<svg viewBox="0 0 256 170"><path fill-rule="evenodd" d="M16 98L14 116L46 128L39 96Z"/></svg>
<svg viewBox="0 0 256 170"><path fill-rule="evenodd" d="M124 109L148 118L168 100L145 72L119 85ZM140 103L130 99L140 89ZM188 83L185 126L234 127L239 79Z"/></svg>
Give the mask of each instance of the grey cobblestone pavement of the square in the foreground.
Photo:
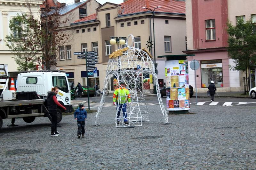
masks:
<svg viewBox="0 0 256 170"><path fill-rule="evenodd" d="M157 105L150 122L116 128L115 110L103 109L86 121L86 137L76 137L73 115L63 116L58 137L47 118L0 131L0 169L256 169L255 106L191 106L188 115L169 115L164 125Z"/></svg>

